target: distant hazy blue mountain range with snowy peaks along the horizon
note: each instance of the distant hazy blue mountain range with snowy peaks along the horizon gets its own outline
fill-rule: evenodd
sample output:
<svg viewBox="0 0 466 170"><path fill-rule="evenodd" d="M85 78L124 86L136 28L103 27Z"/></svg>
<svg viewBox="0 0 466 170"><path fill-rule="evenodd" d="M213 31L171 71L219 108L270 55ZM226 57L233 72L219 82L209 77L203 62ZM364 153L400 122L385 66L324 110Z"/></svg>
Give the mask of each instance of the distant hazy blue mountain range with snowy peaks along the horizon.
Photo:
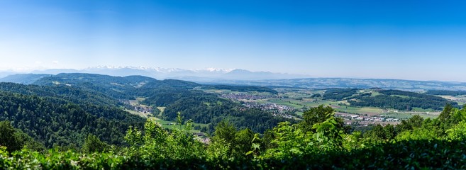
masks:
<svg viewBox="0 0 466 170"><path fill-rule="evenodd" d="M140 75L155 79L180 79L200 84L230 84L250 86L288 86L296 88L382 88L408 91L466 91L466 83L449 81L411 81L401 79L309 78L306 75L272 72L250 72L245 69L165 69L149 67L91 67L88 69L47 69L30 74L0 73L0 81L32 84L43 77L60 73L105 74L115 77Z"/></svg>

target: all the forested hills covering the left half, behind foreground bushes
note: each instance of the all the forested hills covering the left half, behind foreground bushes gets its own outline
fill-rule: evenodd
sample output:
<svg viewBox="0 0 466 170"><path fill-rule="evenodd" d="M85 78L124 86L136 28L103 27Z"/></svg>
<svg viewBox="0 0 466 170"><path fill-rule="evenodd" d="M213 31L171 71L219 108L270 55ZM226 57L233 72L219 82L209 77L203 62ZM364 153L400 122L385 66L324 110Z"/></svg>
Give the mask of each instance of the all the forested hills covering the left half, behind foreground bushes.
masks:
<svg viewBox="0 0 466 170"><path fill-rule="evenodd" d="M221 120L236 128L265 132L286 118L267 111L244 108L240 103L216 94L196 90L189 81L157 80L142 76L111 77L100 74L57 74L33 84L0 83L0 120L9 120L45 147L80 147L89 133L109 144L121 145L130 125L144 121L124 111L128 101L144 98L141 104L163 106L159 118L206 123L204 132L213 132ZM295 120L290 120L295 121Z"/></svg>

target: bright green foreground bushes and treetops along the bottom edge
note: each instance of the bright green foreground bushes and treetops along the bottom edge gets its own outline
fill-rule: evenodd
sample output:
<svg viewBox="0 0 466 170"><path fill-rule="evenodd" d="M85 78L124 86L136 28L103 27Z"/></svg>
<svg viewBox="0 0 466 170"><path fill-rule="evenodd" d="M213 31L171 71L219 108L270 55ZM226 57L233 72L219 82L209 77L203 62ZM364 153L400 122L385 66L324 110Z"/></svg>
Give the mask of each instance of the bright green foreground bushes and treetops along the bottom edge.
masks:
<svg viewBox="0 0 466 170"><path fill-rule="evenodd" d="M231 123L216 126L204 145L192 123L166 131L153 120L126 132L127 147L95 137L82 152L0 149L2 169L465 169L466 108L445 106L438 118L414 116L399 125L349 130L330 107L304 112L301 123L279 123L264 135ZM1 124L0 124L1 125ZM1 126L0 126L1 127ZM1 132L1 130L0 130ZM91 145L96 144L96 145ZM103 149L102 149L103 148ZM93 152L93 154L89 154Z"/></svg>

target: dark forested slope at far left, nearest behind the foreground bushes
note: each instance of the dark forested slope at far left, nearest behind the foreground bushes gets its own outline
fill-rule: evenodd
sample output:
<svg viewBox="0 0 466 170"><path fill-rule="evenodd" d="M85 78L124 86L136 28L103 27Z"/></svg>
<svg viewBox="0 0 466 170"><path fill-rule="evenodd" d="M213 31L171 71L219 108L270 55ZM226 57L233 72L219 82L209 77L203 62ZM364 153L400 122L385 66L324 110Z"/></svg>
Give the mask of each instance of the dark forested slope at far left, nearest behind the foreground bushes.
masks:
<svg viewBox="0 0 466 170"><path fill-rule="evenodd" d="M6 92L0 92L0 113L0 120L11 121L45 147L79 147L89 134L121 145L128 127L141 127L144 121L109 106L79 106L60 98Z"/></svg>

